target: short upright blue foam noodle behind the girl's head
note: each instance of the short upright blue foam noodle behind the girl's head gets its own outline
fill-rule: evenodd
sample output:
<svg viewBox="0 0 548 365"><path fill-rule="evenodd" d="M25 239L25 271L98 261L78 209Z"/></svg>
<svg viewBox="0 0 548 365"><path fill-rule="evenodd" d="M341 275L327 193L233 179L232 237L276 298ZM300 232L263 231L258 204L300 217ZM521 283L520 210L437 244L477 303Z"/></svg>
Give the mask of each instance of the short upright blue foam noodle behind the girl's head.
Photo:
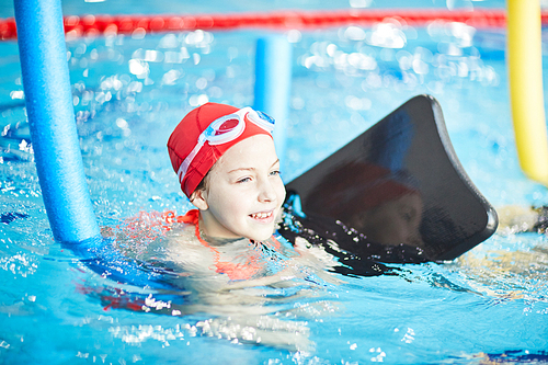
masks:
<svg viewBox="0 0 548 365"><path fill-rule="evenodd" d="M254 105L276 119L274 142L281 164L285 161L285 140L292 85L292 45L282 35L259 38L255 54Z"/></svg>

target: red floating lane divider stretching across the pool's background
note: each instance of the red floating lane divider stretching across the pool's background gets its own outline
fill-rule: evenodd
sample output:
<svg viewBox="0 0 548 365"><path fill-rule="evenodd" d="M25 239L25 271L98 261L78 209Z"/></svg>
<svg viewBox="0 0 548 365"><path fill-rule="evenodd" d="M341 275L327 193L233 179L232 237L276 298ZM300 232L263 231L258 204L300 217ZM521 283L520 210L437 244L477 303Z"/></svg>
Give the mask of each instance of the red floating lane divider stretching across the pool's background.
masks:
<svg viewBox="0 0 548 365"><path fill-rule="evenodd" d="M475 27L504 27L506 11L501 9L449 10L333 10L333 11L279 11L203 15L68 15L65 33L69 36L133 34L134 32L160 33L193 30L233 28L318 28L341 25L370 25L385 19L398 19L408 25L424 26L434 21L461 22ZM543 25L548 24L548 12L541 14ZM0 19L0 39L15 39L13 18Z"/></svg>

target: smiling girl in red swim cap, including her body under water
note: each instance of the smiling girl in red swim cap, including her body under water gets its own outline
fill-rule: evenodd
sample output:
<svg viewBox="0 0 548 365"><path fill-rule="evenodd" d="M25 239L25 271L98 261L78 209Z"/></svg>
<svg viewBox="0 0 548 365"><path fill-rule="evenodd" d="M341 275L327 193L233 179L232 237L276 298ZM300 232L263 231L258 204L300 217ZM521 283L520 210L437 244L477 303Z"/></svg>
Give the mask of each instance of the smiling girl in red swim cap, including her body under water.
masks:
<svg viewBox="0 0 548 365"><path fill-rule="evenodd" d="M287 306L292 299L326 287L331 275L324 267L334 260L322 249L300 240L294 246L275 233L285 186L273 129L274 121L261 112L215 103L181 121L168 150L181 189L196 209L176 219L182 225L149 250L147 261L158 260L179 273L175 281L190 300L178 313L229 316L232 328L275 321L271 330L251 326L261 330L259 341L304 350L310 346L308 328L272 315L295 312ZM258 338L248 341L256 343Z"/></svg>

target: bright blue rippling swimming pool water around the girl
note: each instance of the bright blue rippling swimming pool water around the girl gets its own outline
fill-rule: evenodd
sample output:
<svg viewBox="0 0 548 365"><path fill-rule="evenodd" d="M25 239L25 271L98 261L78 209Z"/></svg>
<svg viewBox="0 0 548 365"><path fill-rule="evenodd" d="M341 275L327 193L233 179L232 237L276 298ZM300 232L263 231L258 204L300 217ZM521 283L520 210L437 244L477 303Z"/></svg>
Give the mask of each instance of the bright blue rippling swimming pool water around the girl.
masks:
<svg viewBox="0 0 548 365"><path fill-rule="evenodd" d="M204 11L213 12L213 5L218 4ZM331 5L338 7L329 2L324 8ZM92 9L71 2L67 8L75 13ZM527 181L517 167L503 31L395 25L391 41L401 48L368 43L374 31L289 34L294 80L286 181L406 100L430 93L442 104L466 171L494 206L548 202L546 189ZM102 226L116 227L140 210L190 207L168 162L165 140L185 112L205 100L252 103L256 36L251 31L198 31L69 41L80 142ZM229 326L220 326L225 332L212 330L208 313L174 318L105 310L104 303L82 292L127 288L98 277L52 241L28 151L16 44L0 43L0 49L2 362L546 362L548 246L537 233L499 232L455 262L401 265L391 276L341 277L345 284L287 300L279 312L289 315L274 318L310 332L315 345L305 352L232 343L226 335ZM363 62L353 62L353 54Z"/></svg>

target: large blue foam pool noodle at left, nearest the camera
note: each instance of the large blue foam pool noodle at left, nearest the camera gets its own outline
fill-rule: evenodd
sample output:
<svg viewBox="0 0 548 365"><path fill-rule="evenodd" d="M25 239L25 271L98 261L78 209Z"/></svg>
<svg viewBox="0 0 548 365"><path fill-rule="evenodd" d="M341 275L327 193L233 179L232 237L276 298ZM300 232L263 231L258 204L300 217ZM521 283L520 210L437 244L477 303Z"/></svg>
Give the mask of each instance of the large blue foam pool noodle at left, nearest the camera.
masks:
<svg viewBox="0 0 548 365"><path fill-rule="evenodd" d="M54 238L100 238L78 142L60 0L14 0L26 113Z"/></svg>

